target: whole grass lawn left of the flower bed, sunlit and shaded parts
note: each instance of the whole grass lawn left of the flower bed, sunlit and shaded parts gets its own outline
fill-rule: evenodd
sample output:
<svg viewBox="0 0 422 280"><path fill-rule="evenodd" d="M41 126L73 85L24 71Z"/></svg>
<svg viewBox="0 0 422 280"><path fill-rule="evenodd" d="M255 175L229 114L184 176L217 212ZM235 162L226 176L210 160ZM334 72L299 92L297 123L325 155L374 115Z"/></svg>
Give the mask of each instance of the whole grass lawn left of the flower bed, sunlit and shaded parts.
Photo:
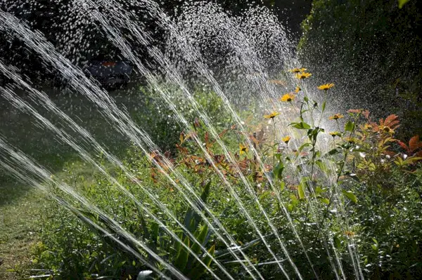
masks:
<svg viewBox="0 0 422 280"><path fill-rule="evenodd" d="M83 98L75 93L51 91L48 88L44 91L63 112L75 118L105 145L112 147L115 154L125 150L122 139L117 139L116 134L113 134L113 137L107 134L113 131L105 129L103 118L93 117L93 114L98 114L94 105L84 102ZM126 105L129 112L136 110L139 95L130 93L130 88L127 91L114 91L112 95L117 104ZM2 138L32 156L59 178L65 177L65 164L73 164L72 168L79 175L84 175L87 182L93 178L94 170L81 164L75 152L56 141L52 133L34 126L32 116L18 112L8 102L0 103L0 112ZM54 122L54 117L49 112L43 109L39 109L39 112ZM30 249L39 241L39 218L43 209L48 207L48 202L38 189L16 182L3 175L1 170L0 194L0 279L20 279L20 276L28 276L30 273L23 272L18 275L6 270L32 268Z"/></svg>

